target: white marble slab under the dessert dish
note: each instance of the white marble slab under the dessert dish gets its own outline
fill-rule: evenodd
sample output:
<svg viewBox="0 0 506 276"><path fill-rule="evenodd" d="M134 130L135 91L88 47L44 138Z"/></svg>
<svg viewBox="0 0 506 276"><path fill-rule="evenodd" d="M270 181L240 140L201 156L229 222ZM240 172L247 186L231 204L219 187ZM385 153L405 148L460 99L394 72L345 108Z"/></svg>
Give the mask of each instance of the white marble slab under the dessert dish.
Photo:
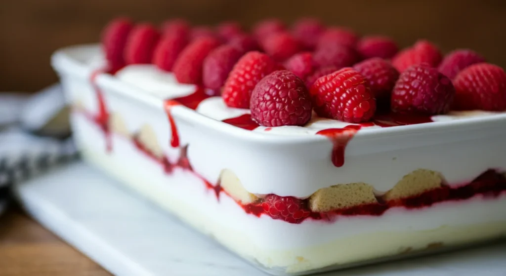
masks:
<svg viewBox="0 0 506 276"><path fill-rule="evenodd" d="M35 219L116 275L266 275L82 162L15 192ZM319 275L478 274L506 275L506 243Z"/></svg>

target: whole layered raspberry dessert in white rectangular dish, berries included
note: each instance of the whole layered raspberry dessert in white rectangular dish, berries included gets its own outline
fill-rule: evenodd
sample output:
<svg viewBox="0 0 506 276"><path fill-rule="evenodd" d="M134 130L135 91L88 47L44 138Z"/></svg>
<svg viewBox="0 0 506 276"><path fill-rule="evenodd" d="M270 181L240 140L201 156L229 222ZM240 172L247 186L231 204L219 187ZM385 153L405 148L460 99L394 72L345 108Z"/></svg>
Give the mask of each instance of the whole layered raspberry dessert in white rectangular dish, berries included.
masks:
<svg viewBox="0 0 506 276"><path fill-rule="evenodd" d="M276 275L506 236L506 74L302 19L57 52L83 157Z"/></svg>

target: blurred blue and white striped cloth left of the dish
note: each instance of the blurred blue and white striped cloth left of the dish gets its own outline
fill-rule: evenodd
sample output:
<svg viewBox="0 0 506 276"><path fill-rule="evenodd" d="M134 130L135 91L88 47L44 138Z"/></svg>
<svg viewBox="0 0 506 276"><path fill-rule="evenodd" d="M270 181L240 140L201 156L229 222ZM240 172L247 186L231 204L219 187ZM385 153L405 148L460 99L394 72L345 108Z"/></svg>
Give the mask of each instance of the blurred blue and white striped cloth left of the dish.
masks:
<svg viewBox="0 0 506 276"><path fill-rule="evenodd" d="M64 106L59 85L34 96L0 94L0 213L13 183L77 158L71 137L34 134Z"/></svg>

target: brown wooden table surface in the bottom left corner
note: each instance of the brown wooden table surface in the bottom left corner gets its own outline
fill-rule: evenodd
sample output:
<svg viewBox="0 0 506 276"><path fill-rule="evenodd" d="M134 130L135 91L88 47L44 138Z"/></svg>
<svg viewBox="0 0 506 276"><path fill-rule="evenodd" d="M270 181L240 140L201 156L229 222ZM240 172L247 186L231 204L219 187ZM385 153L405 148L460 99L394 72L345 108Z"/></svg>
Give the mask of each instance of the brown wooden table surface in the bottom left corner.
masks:
<svg viewBox="0 0 506 276"><path fill-rule="evenodd" d="M0 276L111 275L12 206L0 216Z"/></svg>

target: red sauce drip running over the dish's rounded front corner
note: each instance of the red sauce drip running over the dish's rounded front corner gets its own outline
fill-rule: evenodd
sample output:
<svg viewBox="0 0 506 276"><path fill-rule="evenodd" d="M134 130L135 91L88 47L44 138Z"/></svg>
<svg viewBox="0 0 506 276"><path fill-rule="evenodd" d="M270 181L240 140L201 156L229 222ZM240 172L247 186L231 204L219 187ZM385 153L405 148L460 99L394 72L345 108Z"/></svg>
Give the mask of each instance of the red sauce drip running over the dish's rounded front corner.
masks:
<svg viewBox="0 0 506 276"><path fill-rule="evenodd" d="M346 146L360 128L360 125L347 125L343 128L328 128L316 132L316 134L326 136L332 142L332 164L334 166L342 167L345 164Z"/></svg>

